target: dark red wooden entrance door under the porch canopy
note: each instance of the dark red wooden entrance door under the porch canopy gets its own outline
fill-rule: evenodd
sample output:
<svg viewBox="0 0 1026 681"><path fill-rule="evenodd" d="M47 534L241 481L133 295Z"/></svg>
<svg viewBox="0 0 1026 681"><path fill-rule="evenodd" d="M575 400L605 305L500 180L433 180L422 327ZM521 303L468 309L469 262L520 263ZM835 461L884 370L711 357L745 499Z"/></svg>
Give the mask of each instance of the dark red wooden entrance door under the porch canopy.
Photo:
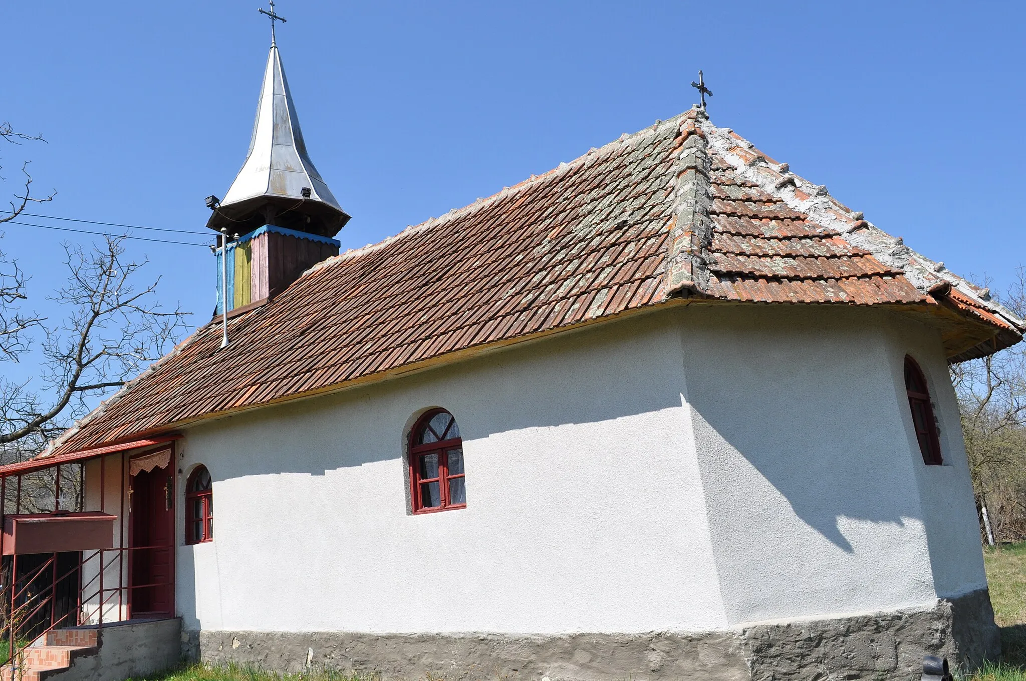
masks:
<svg viewBox="0 0 1026 681"><path fill-rule="evenodd" d="M130 616L174 616L174 479L171 467L131 476Z"/></svg>

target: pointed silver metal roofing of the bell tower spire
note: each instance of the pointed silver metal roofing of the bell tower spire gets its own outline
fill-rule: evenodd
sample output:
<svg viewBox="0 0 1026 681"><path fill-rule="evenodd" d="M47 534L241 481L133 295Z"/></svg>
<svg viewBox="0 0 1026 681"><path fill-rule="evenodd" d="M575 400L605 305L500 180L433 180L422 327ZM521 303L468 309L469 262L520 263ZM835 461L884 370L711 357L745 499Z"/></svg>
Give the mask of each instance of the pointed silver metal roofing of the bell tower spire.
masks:
<svg viewBox="0 0 1026 681"><path fill-rule="evenodd" d="M272 44L249 152L207 227L242 232L277 225L333 236L348 221L307 155L281 55Z"/></svg>

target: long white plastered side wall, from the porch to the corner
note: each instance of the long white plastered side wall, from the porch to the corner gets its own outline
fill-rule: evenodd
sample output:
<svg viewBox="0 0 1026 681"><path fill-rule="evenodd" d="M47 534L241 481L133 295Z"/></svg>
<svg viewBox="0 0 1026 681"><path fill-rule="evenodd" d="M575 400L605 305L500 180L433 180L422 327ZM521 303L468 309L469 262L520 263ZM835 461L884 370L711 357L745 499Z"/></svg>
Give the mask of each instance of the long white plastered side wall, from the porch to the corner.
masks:
<svg viewBox="0 0 1026 681"><path fill-rule="evenodd" d="M665 315L191 429L214 539L187 629L642 632L724 624ZM464 438L467 508L409 515L404 428ZM181 523L180 518L180 540Z"/></svg>

